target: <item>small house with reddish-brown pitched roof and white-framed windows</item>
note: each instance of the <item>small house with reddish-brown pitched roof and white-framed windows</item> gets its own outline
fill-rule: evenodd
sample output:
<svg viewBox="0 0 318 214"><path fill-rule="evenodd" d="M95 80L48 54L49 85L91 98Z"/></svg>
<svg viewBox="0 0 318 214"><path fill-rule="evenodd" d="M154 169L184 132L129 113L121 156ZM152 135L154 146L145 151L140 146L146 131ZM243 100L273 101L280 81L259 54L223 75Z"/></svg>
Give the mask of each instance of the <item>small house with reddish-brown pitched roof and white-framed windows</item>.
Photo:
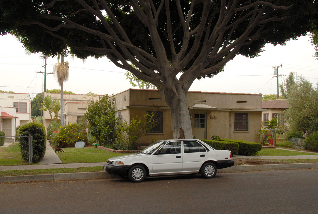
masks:
<svg viewBox="0 0 318 214"><path fill-rule="evenodd" d="M284 121L283 111L288 108L286 100L267 100L262 102L262 122L266 126L266 121L277 118L279 126L287 125Z"/></svg>

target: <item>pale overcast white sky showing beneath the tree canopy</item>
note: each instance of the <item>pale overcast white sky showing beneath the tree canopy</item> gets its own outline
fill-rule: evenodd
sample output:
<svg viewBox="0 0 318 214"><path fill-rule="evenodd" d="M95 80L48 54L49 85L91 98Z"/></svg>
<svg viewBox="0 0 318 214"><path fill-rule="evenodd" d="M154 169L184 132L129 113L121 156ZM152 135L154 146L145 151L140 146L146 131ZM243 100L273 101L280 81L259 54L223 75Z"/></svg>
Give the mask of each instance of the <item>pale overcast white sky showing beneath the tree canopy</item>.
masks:
<svg viewBox="0 0 318 214"><path fill-rule="evenodd" d="M31 99L44 89L44 60L40 54L27 56L24 48L11 35L0 36L0 90L16 93L29 93ZM307 78L316 86L318 81L318 60L313 57L314 47L309 37L289 41L285 46L266 45L260 57L250 59L237 56L225 66L225 71L213 78L196 80L190 90L234 93L277 93L277 78L273 67L279 67L279 83L289 72ZM66 57L69 62L69 80L64 83L64 90L77 94L89 91L95 94L116 94L132 88L125 81L126 70L116 67L106 57L98 60L88 58L83 64L81 59ZM56 58L47 59L47 72L52 73ZM58 89L54 75L48 74L46 89Z"/></svg>

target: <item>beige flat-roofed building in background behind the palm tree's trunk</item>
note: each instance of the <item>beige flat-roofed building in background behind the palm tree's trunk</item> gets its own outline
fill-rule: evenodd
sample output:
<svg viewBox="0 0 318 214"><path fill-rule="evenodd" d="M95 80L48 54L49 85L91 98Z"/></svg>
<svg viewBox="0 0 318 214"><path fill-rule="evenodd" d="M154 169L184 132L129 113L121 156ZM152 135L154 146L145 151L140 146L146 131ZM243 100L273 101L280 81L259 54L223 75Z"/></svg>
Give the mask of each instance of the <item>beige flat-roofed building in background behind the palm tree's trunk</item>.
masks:
<svg viewBox="0 0 318 214"><path fill-rule="evenodd" d="M52 97L52 100L60 100L60 93L44 93L44 97L47 95ZM86 107L89 104L89 100L96 100L102 95L97 95L96 97L90 97L86 94L63 94L63 110L64 110L64 124L69 123L78 123L82 117L84 117L84 113L86 113ZM54 117L54 113L52 113L52 117ZM60 119L60 113L58 114L58 118ZM43 125L45 128L51 124L51 117L47 111L43 113Z"/></svg>

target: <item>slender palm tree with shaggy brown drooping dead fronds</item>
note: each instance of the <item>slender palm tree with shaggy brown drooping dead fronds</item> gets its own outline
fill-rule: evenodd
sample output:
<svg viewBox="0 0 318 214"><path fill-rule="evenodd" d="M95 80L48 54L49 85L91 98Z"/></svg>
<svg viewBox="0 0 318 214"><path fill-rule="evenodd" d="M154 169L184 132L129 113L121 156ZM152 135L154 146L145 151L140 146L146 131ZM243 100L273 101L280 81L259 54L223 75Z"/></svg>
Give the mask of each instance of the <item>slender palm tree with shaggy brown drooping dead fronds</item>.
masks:
<svg viewBox="0 0 318 214"><path fill-rule="evenodd" d="M69 66L68 62L64 62L64 57L61 56L61 63L56 63L53 66L53 71L61 86L61 127L64 126L64 112L63 112L63 83L68 80Z"/></svg>

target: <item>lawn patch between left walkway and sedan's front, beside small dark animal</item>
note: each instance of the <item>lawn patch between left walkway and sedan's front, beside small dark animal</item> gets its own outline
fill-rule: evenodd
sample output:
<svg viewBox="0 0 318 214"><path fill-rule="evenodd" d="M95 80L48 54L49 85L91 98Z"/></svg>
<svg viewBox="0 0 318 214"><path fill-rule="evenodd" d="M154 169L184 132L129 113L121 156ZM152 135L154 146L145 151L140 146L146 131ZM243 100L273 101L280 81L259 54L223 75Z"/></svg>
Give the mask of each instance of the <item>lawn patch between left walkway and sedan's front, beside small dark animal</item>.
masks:
<svg viewBox="0 0 318 214"><path fill-rule="evenodd" d="M62 149L64 152L59 152L56 154L58 154L63 164L106 162L110 157L128 155L112 153L95 148L94 146L87 146L84 148L67 147Z"/></svg>

